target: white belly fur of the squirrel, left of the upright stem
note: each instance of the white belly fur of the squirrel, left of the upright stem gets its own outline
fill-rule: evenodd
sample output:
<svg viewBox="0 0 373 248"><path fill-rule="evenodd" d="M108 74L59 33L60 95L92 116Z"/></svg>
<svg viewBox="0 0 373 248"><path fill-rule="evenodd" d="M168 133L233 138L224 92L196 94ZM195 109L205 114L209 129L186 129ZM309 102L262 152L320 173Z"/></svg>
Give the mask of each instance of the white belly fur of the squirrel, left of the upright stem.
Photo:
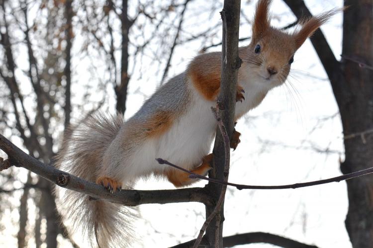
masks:
<svg viewBox="0 0 373 248"><path fill-rule="evenodd" d="M188 110L169 130L159 137L147 139L135 152L132 165L127 168L133 168L132 173L136 171L137 177L171 169L168 165L158 164L156 158L189 170L198 166L209 153L216 131L216 120L210 110L214 102L204 100L190 84L188 86L191 92Z"/></svg>

